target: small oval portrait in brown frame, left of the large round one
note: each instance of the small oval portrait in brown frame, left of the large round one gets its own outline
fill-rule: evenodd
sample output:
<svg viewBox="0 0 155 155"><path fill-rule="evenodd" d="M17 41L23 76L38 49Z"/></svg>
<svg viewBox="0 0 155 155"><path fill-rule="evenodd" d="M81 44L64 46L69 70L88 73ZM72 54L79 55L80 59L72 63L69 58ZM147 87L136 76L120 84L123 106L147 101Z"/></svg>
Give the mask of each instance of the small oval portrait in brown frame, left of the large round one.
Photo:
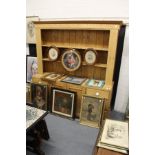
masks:
<svg viewBox="0 0 155 155"><path fill-rule="evenodd" d="M48 49L48 57L51 61L57 60L59 53L59 49L56 46L50 46Z"/></svg>

